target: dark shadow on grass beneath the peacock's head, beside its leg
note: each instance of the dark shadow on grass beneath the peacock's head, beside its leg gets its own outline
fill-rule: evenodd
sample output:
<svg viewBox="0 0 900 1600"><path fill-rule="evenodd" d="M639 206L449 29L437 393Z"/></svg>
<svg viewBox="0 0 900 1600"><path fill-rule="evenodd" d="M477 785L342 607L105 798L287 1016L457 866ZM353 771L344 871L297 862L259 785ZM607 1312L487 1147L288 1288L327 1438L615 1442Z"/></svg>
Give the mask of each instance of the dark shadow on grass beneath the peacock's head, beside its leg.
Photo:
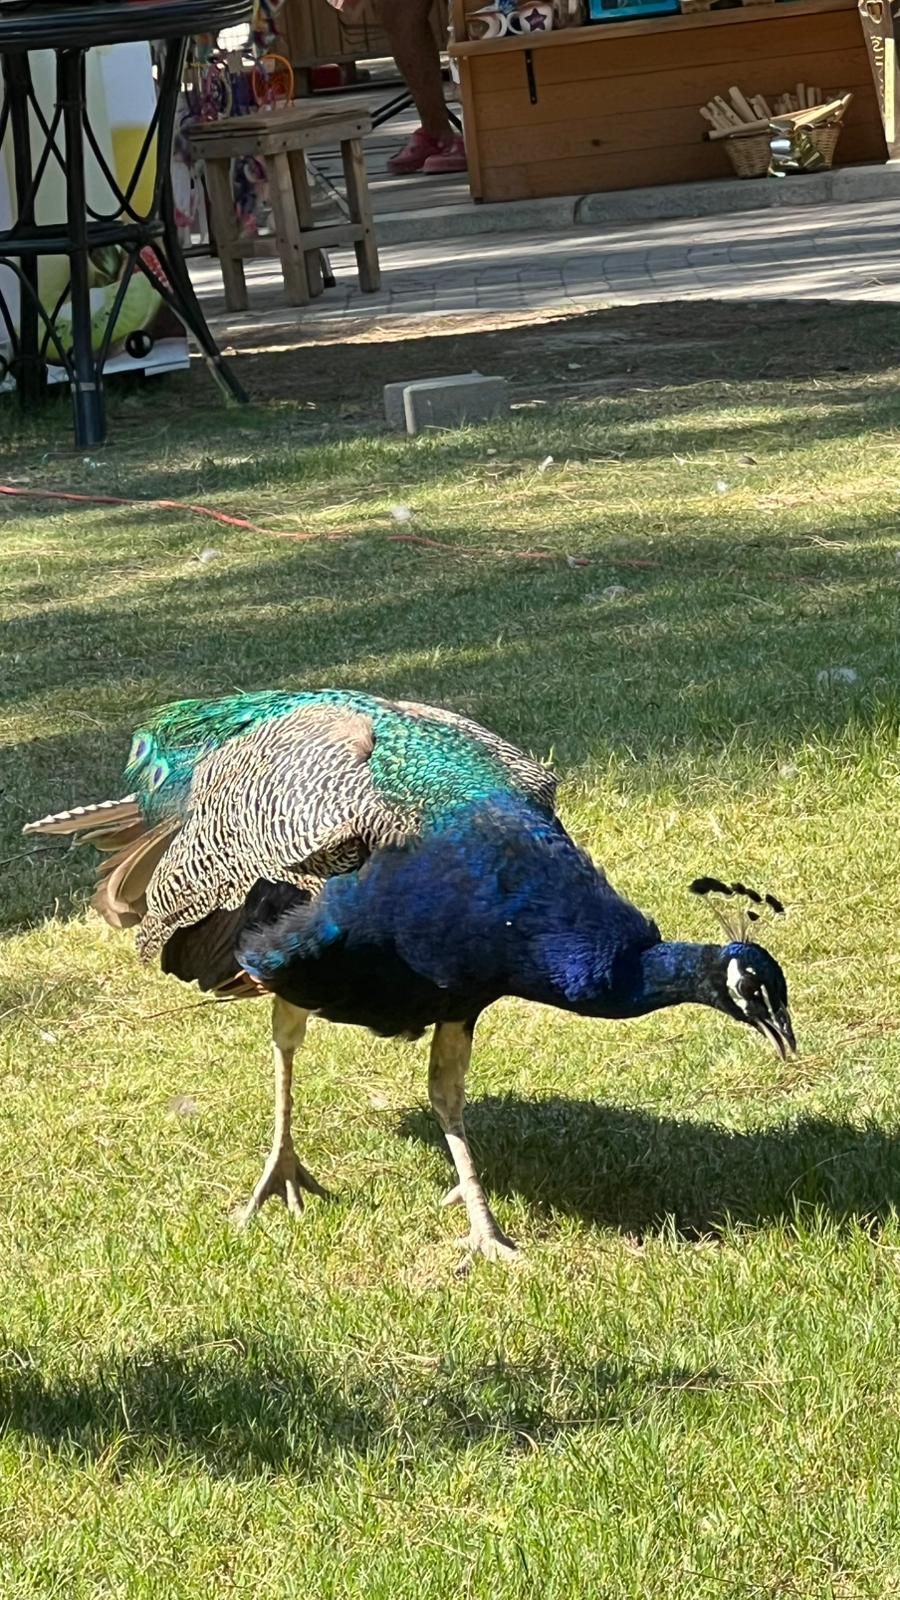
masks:
<svg viewBox="0 0 900 1600"><path fill-rule="evenodd" d="M717 1237L818 1214L874 1227L900 1208L900 1134L806 1117L749 1133L586 1099L485 1098L466 1110L488 1194L645 1235ZM440 1144L431 1114L400 1133Z"/></svg>

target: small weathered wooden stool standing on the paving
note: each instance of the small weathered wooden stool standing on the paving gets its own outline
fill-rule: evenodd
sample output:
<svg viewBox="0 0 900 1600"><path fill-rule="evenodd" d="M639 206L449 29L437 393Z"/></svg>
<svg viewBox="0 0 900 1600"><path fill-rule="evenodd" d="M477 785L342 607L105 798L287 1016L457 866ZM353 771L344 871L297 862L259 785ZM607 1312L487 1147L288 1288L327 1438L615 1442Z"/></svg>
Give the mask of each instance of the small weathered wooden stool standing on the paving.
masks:
<svg viewBox="0 0 900 1600"><path fill-rule="evenodd" d="M322 293L320 251L352 245L364 294L381 286L378 245L365 176L364 134L372 131L365 106L319 107L295 102L250 117L224 117L189 130L191 149L207 168L210 234L223 269L227 310L247 310L247 258L277 256L291 306L307 306ZM349 219L317 226L306 171L306 152L340 144ZM274 235L242 238L234 210L231 163L259 155L269 174Z"/></svg>

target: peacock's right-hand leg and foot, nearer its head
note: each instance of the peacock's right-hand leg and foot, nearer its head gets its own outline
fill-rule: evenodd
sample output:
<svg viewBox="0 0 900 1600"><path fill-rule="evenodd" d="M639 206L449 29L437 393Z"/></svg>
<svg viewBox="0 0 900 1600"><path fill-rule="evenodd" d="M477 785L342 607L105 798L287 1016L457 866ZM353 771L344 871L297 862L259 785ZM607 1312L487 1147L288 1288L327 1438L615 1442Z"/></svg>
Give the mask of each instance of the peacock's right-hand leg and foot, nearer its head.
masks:
<svg viewBox="0 0 900 1600"><path fill-rule="evenodd" d="M511 1238L501 1232L496 1218L490 1210L484 1189L476 1173L463 1107L466 1104L466 1069L472 1054L471 1022L439 1022L431 1040L431 1061L428 1069L428 1093L431 1109L437 1117L450 1155L456 1168L460 1182L450 1190L444 1205L460 1202L469 1216L469 1237L466 1238L466 1258L460 1270L466 1272L474 1256L487 1256L488 1261L516 1261L519 1251Z"/></svg>

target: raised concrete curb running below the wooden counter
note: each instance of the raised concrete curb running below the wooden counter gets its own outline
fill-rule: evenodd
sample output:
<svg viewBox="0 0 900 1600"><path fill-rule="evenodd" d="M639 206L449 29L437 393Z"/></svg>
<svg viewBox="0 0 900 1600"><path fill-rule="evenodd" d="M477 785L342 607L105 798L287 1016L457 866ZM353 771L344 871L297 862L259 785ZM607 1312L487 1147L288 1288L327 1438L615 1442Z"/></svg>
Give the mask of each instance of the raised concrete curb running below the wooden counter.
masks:
<svg viewBox="0 0 900 1600"><path fill-rule="evenodd" d="M657 189L620 189L615 194L560 195L552 200L516 200L492 205L448 205L380 216L380 245L424 245L432 238L471 238L479 234L562 232L580 227L617 227L628 222L671 221L729 213L806 210L815 205L854 205L900 197L900 162L884 166L839 166L804 178L724 178L706 184L666 184Z"/></svg>

